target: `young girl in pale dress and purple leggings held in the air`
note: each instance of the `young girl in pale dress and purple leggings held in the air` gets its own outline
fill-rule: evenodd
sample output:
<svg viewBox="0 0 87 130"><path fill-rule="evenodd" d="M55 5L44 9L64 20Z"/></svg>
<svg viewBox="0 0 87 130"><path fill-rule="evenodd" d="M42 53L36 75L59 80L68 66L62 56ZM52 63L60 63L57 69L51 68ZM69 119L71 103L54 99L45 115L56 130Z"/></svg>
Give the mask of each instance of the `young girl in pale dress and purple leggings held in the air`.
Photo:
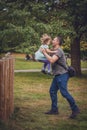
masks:
<svg viewBox="0 0 87 130"><path fill-rule="evenodd" d="M42 68L42 72L45 74L50 74L51 72L51 68L50 68L50 62L46 59L46 57L44 56L44 54L41 52L41 48L44 49L48 49L49 48L49 44L51 42L51 37L48 36L47 34L43 34L41 37L41 43L42 45L40 46L39 50L35 53L35 60L43 62L43 68ZM47 69L47 71L46 71Z"/></svg>

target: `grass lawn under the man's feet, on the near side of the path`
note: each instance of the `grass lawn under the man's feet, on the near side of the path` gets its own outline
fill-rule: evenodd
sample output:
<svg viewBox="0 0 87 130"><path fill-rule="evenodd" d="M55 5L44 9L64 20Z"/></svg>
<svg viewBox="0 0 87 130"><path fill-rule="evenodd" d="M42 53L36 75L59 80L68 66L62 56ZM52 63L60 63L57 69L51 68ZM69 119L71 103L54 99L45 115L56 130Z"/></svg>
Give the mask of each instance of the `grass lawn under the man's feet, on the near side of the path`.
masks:
<svg viewBox="0 0 87 130"><path fill-rule="evenodd" d="M76 119L69 104L58 93L59 115L45 115L50 109L49 86L52 76L42 73L15 73L15 112L6 124L0 122L0 130L86 130L87 129L87 71L79 78L71 78L68 88L81 113Z"/></svg>

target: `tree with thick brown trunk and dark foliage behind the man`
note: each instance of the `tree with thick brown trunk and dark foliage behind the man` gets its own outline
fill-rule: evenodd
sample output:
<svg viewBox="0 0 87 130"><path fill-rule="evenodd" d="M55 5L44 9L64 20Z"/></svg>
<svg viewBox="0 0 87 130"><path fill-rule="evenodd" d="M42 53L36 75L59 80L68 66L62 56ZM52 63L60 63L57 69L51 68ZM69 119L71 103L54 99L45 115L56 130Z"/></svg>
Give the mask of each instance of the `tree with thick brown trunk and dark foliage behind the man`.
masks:
<svg viewBox="0 0 87 130"><path fill-rule="evenodd" d="M59 19L64 19L64 27L71 30L68 34L71 38L71 65L80 76L80 42L87 40L87 0L60 0L56 4L52 2L51 7L63 13L58 13Z"/></svg>

